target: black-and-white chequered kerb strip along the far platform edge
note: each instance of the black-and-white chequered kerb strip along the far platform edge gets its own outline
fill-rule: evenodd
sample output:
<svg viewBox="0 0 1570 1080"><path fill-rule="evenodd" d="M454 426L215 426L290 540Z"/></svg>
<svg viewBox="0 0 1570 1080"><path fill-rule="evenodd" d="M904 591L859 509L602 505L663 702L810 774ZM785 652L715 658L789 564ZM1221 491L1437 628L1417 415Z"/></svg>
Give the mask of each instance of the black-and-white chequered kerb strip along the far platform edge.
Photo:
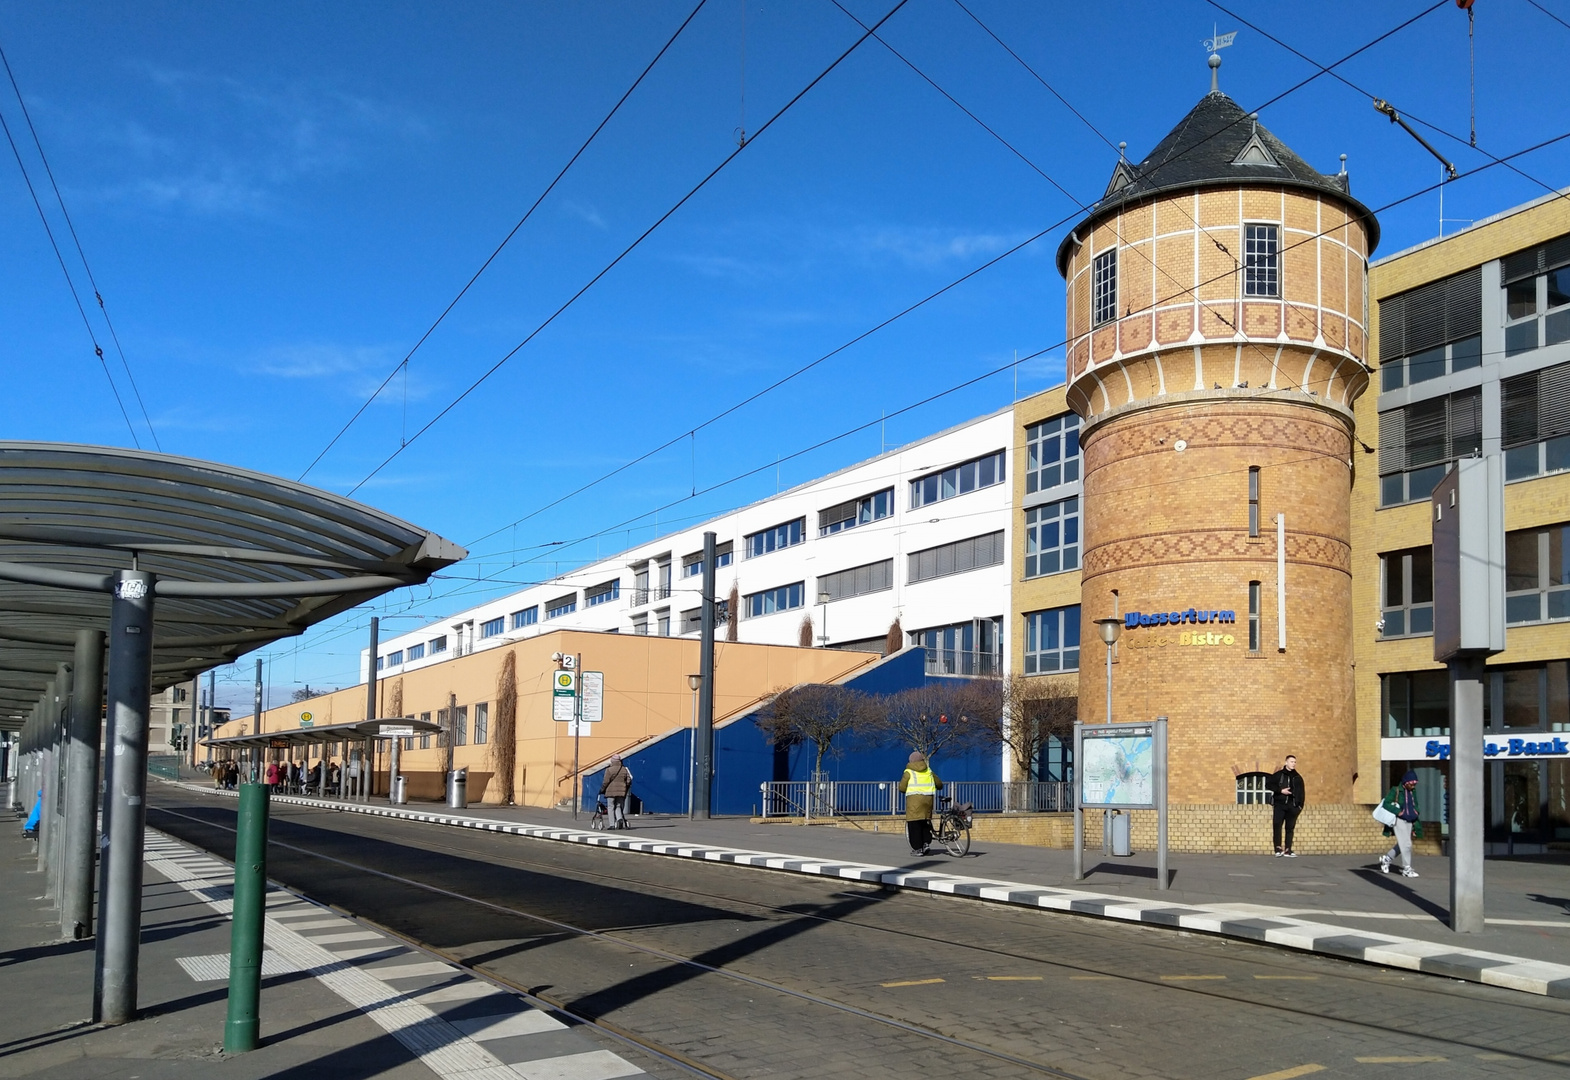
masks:
<svg viewBox="0 0 1570 1080"><path fill-rule="evenodd" d="M232 791L190 786L210 794L234 796ZM702 859L705 862L735 863L738 867L760 867L820 878L874 882L898 888L922 888L931 893L972 896L1071 915L1096 915L1099 918L1116 918L1146 926L1170 926L1570 1000L1570 965L1567 964L1550 964L1523 956L1455 948L1443 942L1424 942L1347 926L1331 926L1311 918L1286 915L1280 909L1254 904L1174 904L1160 899L1130 899L1127 896L1108 896L1080 888L1052 888L1047 885L940 874L928 870L912 871L900 867L879 867L876 863L848 860L802 859L801 856L785 856L772 851L747 851L714 845L658 843L625 834L554 829L550 826L520 824L517 821L498 821L495 818L425 813L421 810L355 802L322 802L294 796L273 796L273 802L364 813L377 818L400 818L403 821L421 821L454 829L506 832L515 837L579 843L590 848L614 848L617 851L639 851L652 856Z"/></svg>

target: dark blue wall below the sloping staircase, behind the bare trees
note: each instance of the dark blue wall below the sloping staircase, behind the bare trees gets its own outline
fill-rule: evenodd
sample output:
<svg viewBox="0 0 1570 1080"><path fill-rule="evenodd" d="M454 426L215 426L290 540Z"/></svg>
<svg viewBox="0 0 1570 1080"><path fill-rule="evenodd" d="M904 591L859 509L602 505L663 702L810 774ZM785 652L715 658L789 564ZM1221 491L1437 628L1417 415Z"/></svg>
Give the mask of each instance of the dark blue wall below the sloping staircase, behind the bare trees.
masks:
<svg viewBox="0 0 1570 1080"><path fill-rule="evenodd" d="M845 681L864 694L896 694L912 686L958 681L926 673L926 653L907 648ZM755 711L732 717L714 728L714 780L711 813L755 815L760 786L766 780L810 780L816 750L810 744L771 746L754 722ZM824 757L831 780L898 780L911 747L887 741L849 738ZM622 755L633 772L633 794L644 813L689 813L692 790L692 732L681 728ZM1003 757L997 746L939 755L933 769L944 782L1002 780ZM590 810L604 780L604 768L584 774L582 808Z"/></svg>

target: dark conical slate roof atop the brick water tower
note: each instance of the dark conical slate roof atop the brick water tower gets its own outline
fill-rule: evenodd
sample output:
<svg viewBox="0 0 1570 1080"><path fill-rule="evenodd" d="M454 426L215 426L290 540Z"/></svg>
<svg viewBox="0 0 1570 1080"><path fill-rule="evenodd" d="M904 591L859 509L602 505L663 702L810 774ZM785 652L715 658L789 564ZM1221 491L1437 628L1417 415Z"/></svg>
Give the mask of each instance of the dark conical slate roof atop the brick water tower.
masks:
<svg viewBox="0 0 1570 1080"><path fill-rule="evenodd" d="M1152 195L1198 187L1298 187L1324 192L1347 204L1369 231L1369 251L1378 243L1378 221L1352 198L1345 173L1327 176L1292 152L1264 124L1218 89L1199 99L1167 138L1140 162L1119 160L1107 193L1090 215L1058 245L1058 270L1068 262L1074 235L1107 213Z"/></svg>

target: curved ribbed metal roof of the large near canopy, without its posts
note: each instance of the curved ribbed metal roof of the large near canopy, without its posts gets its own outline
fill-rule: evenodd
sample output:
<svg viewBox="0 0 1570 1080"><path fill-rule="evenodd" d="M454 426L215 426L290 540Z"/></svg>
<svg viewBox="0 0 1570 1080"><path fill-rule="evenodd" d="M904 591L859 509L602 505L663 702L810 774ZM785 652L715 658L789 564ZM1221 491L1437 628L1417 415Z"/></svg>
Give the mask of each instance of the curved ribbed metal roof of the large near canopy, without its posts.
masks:
<svg viewBox="0 0 1570 1080"><path fill-rule="evenodd" d="M0 730L20 727L115 571L157 575L162 689L463 559L458 545L303 483L102 446L0 441Z"/></svg>

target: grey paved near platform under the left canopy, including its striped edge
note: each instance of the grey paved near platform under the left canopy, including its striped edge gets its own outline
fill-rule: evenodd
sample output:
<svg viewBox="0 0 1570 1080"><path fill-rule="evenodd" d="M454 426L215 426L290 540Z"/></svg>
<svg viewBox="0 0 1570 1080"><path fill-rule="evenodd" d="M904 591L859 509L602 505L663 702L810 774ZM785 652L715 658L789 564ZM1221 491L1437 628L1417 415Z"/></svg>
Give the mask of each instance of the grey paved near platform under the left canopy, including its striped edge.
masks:
<svg viewBox="0 0 1570 1080"><path fill-rule="evenodd" d="M9 816L9 815L6 815ZM9 824L9 823L6 823ZM642 1069L521 995L279 887L262 1039L223 1053L232 865L148 830L141 1016L91 1022L93 942L58 937L20 829L0 830L0 1077L614 1080Z"/></svg>

